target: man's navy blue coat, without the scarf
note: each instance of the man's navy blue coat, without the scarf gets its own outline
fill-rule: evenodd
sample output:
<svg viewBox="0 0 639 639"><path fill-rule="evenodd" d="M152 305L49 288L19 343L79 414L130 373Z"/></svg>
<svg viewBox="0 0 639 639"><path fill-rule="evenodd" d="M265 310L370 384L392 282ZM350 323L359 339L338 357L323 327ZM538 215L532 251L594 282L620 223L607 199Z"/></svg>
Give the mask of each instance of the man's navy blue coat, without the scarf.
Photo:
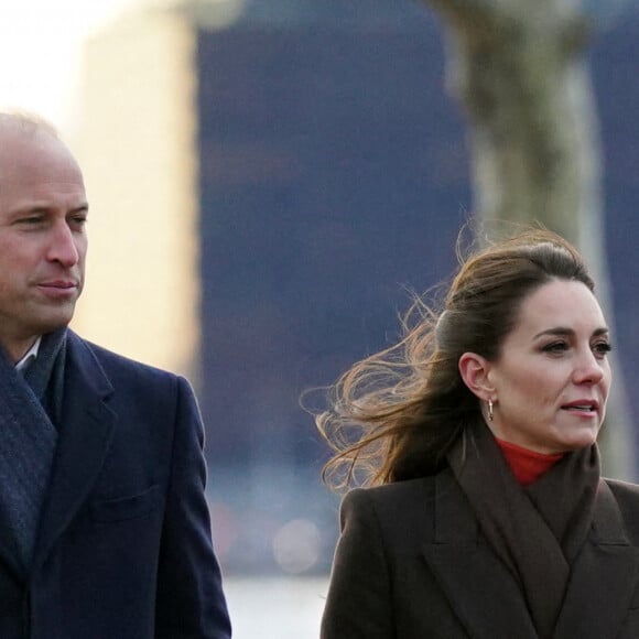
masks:
<svg viewBox="0 0 639 639"><path fill-rule="evenodd" d="M0 529L2 639L226 639L183 378L69 332L65 399L31 573Z"/></svg>

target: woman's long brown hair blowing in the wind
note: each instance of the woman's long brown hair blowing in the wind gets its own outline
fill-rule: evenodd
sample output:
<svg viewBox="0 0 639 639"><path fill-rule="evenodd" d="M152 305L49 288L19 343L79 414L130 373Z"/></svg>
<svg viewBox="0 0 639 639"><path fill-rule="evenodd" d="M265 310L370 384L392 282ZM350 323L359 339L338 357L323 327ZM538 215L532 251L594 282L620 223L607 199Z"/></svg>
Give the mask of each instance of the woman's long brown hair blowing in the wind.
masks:
<svg viewBox="0 0 639 639"><path fill-rule="evenodd" d="M459 254L459 251L458 251ZM445 463L463 431L481 419L458 361L499 358L528 295L552 280L594 282L577 250L548 230L527 230L464 259L442 308L416 299L403 338L356 364L329 392L316 424L334 456L323 478L333 488L424 477Z"/></svg>

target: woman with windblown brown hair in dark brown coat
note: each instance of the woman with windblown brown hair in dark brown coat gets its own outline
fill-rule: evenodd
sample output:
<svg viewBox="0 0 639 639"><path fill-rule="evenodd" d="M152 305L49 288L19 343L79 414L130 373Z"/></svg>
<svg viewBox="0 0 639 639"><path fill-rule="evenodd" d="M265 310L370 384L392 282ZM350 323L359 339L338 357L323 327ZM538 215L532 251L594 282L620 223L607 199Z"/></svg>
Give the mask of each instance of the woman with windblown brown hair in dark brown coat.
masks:
<svg viewBox="0 0 639 639"><path fill-rule="evenodd" d="M323 639L639 637L639 490L599 478L593 291L570 243L521 234L339 380L325 477L369 487L343 501Z"/></svg>

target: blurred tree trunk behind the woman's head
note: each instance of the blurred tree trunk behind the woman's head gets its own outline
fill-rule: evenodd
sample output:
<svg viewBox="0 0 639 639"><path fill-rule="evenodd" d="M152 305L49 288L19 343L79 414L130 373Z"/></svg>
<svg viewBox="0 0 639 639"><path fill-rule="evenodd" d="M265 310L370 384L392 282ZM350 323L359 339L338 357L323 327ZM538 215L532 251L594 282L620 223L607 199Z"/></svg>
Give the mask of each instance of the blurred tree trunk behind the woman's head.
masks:
<svg viewBox="0 0 639 639"><path fill-rule="evenodd" d="M487 223L541 223L575 243L611 324L587 17L565 0L424 1L444 19L447 87L470 124L475 213ZM604 467L632 479L632 430L613 366Z"/></svg>

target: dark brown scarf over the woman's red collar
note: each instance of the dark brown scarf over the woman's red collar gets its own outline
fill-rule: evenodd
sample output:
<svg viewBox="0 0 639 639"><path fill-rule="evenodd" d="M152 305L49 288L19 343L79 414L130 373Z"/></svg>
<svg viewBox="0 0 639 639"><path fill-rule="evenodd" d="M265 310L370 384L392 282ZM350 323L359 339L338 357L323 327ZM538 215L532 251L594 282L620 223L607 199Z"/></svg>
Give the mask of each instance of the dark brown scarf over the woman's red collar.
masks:
<svg viewBox="0 0 639 639"><path fill-rule="evenodd" d="M488 543L519 583L539 637L551 639L571 564L592 522L596 445L566 454L522 488L488 427L477 424L453 446L448 464Z"/></svg>

